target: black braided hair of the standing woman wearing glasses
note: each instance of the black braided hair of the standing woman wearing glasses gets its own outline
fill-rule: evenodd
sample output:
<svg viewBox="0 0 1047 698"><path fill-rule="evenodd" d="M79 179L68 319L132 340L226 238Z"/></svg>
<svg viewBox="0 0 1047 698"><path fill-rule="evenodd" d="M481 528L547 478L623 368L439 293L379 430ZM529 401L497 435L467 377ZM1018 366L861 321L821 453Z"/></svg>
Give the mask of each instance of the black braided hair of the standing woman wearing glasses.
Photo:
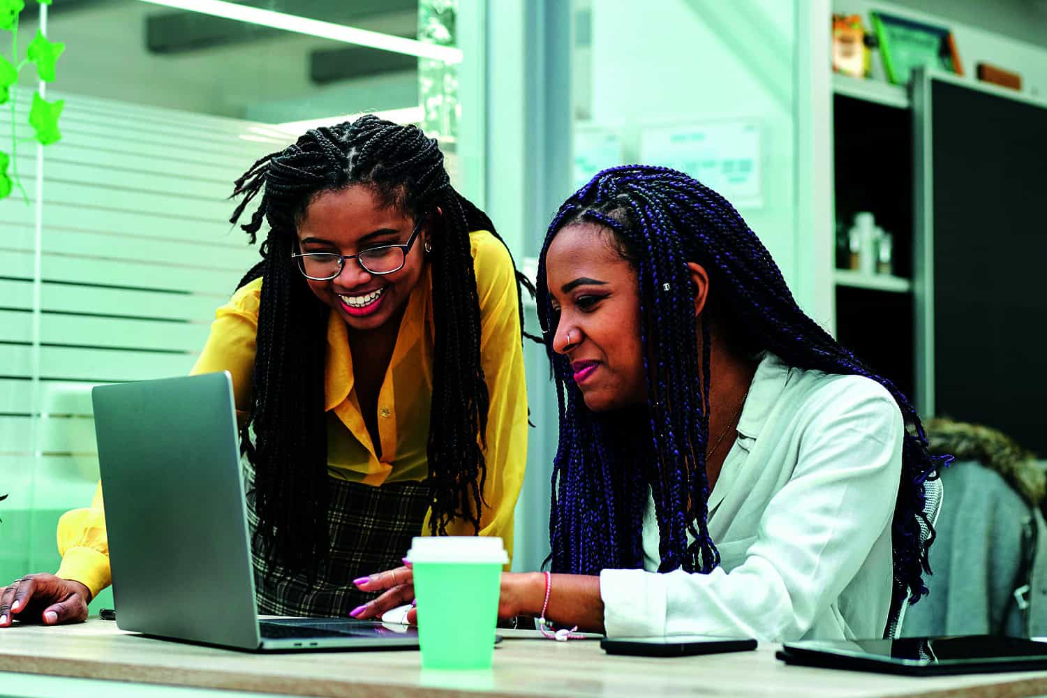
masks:
<svg viewBox="0 0 1047 698"><path fill-rule="evenodd" d="M461 517L480 530L487 476L480 444L489 396L469 232L489 230L498 238L497 232L487 215L451 186L436 139L414 126L366 115L310 130L294 144L265 156L237 180L232 194L243 197L230 218L236 223L262 193L258 209L241 226L252 244L263 222L269 224L262 262L239 285L265 278L253 401L241 433L242 449L255 471L255 543L270 561L292 569L317 569L330 541L324 395L329 308L313 295L291 253L307 206L322 193L354 185L366 186L381 205L416 221L423 216L432 221L427 258L432 265L438 368L427 442L430 526L432 534L446 535L448 523ZM442 215L432 215L438 207ZM516 277L522 328L519 285L532 293L534 287L519 272Z"/></svg>

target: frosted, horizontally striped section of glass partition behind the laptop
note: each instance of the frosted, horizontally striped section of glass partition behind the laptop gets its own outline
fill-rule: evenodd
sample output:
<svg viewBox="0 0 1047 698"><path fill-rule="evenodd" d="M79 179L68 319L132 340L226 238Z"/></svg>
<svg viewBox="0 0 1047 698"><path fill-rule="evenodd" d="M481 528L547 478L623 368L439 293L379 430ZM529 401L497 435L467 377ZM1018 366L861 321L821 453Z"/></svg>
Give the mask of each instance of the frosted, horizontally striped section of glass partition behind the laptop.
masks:
<svg viewBox="0 0 1047 698"><path fill-rule="evenodd" d="M19 94L20 137L31 134L22 126L30 95ZM259 258L228 223L232 181L288 142L247 121L47 97L66 106L63 139L44 149L39 351L31 143L17 161L29 205L18 190L0 201L0 494L10 493L0 504L0 578L53 557L54 519L90 500L91 386L181 375L195 362L215 308ZM0 118L0 149L9 142ZM51 549L32 549L39 541Z"/></svg>

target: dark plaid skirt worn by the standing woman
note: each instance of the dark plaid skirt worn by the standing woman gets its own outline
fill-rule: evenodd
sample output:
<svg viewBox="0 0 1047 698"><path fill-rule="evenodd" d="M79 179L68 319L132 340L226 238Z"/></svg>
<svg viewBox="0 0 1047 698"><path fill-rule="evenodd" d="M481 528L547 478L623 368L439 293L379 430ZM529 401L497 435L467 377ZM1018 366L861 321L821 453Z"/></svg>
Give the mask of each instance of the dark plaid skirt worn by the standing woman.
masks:
<svg viewBox="0 0 1047 698"><path fill-rule="evenodd" d="M421 482L372 487L328 478L331 555L310 579L307 572L292 572L259 554L253 544L259 519L249 470L245 478L254 598L259 613L271 615L346 617L374 599L377 594L360 591L353 580L402 565L432 501L429 488Z"/></svg>

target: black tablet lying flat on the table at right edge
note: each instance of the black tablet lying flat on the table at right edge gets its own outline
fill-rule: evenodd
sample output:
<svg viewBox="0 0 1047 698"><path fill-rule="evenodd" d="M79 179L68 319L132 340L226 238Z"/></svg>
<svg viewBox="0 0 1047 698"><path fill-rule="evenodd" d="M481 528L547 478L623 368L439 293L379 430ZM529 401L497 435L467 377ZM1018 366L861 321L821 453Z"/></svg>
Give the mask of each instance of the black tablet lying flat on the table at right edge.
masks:
<svg viewBox="0 0 1047 698"><path fill-rule="evenodd" d="M1047 669L1047 643L999 635L804 640L777 654L790 665L907 675L982 674Z"/></svg>

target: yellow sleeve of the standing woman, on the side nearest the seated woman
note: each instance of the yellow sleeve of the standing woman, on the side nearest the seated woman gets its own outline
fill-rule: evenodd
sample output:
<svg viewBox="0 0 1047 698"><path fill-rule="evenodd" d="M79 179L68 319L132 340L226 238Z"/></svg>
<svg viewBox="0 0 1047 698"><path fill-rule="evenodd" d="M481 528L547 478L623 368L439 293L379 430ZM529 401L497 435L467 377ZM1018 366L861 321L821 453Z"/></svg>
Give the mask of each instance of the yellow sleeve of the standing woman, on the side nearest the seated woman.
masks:
<svg viewBox="0 0 1047 698"><path fill-rule="evenodd" d="M487 506L481 516L480 535L500 536L512 562L513 511L524 485L528 436L516 277L509 250L497 239L489 232L474 232L472 244L481 313L481 364L490 398L484 451ZM472 535L471 524L464 521L455 521L454 527L448 533Z"/></svg>

